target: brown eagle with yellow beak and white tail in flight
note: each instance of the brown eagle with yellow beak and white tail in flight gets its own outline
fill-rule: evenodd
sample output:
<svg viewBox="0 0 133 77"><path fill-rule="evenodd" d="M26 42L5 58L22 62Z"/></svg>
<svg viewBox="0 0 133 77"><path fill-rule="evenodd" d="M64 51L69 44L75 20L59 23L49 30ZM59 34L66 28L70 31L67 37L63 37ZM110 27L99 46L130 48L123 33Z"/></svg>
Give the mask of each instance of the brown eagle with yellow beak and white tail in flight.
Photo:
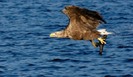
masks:
<svg viewBox="0 0 133 77"><path fill-rule="evenodd" d="M101 23L106 23L103 17L97 11L74 5L66 6L62 12L69 18L68 26L63 30L51 33L50 37L89 40L94 47L100 47L101 53L106 44L107 35L111 34L106 29L97 30ZM96 43L94 40L99 42Z"/></svg>

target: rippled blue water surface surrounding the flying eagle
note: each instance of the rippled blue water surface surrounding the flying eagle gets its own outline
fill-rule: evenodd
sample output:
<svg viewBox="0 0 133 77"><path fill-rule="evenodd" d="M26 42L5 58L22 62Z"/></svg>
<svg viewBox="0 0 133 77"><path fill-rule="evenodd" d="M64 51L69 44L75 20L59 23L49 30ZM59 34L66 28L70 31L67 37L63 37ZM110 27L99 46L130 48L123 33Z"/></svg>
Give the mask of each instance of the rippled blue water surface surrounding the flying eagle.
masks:
<svg viewBox="0 0 133 77"><path fill-rule="evenodd" d="M102 56L89 41L49 37L68 24L67 5L108 22ZM133 0L0 0L0 77L133 77Z"/></svg>

